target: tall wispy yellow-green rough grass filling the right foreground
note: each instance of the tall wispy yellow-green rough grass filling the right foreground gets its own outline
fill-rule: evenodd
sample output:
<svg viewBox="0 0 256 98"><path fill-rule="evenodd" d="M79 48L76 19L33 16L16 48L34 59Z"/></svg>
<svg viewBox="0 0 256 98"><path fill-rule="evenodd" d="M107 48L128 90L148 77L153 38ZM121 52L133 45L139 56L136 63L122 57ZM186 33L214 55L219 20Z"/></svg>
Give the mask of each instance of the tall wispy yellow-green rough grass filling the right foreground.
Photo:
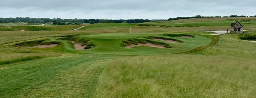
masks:
<svg viewBox="0 0 256 98"><path fill-rule="evenodd" d="M195 54L138 56L111 61L94 97L256 97L253 42L221 36Z"/></svg>

